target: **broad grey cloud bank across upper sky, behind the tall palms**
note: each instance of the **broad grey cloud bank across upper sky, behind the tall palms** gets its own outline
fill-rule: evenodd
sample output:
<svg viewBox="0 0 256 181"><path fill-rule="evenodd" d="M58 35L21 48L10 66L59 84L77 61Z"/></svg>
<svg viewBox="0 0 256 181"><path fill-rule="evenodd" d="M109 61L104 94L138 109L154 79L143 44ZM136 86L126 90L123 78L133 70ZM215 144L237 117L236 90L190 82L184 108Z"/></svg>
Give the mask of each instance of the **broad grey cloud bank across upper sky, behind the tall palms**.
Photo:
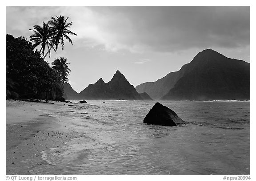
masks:
<svg viewBox="0 0 256 181"><path fill-rule="evenodd" d="M7 7L6 29L22 31L69 16L79 47L132 53L250 46L249 6Z"/></svg>

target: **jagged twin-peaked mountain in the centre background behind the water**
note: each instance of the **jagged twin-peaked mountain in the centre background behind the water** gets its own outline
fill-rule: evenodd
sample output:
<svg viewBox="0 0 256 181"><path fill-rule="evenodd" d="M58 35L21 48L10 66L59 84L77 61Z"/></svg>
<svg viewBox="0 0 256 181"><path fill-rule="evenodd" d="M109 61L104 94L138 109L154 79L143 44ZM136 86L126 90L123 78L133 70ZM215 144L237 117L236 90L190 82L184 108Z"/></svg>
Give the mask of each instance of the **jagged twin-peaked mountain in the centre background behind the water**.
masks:
<svg viewBox="0 0 256 181"><path fill-rule="evenodd" d="M100 78L79 93L86 100L144 100L120 71L108 83Z"/></svg>

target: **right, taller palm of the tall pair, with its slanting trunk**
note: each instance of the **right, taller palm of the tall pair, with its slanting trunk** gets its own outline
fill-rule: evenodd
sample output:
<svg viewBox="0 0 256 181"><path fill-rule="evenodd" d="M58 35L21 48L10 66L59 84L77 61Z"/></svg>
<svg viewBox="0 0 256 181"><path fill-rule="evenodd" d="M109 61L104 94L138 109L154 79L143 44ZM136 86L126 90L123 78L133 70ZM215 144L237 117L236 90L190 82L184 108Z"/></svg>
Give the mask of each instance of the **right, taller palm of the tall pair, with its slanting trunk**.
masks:
<svg viewBox="0 0 256 181"><path fill-rule="evenodd" d="M62 50L64 50L64 39L68 40L73 45L72 39L68 35L76 35L76 33L73 33L72 31L68 30L68 28L72 26L73 22L67 23L67 20L68 17L65 19L64 16L56 16L56 18L52 17L52 20L48 22L52 26L53 41L50 49L48 50L46 55L44 55L44 59L53 46L55 46L55 49L57 50L59 43L61 43Z"/></svg>

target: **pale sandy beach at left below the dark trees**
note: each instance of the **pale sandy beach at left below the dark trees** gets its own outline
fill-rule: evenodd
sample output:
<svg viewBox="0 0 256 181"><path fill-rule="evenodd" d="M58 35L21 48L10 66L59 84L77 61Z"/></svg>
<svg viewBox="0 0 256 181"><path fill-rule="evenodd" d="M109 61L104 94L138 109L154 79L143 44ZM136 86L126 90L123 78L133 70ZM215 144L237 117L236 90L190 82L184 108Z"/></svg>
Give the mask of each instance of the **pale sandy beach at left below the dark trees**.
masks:
<svg viewBox="0 0 256 181"><path fill-rule="evenodd" d="M65 147L66 142L76 138L68 119L48 114L67 103L51 103L6 100L7 175L36 174L36 170L48 164L42 159L44 150Z"/></svg>

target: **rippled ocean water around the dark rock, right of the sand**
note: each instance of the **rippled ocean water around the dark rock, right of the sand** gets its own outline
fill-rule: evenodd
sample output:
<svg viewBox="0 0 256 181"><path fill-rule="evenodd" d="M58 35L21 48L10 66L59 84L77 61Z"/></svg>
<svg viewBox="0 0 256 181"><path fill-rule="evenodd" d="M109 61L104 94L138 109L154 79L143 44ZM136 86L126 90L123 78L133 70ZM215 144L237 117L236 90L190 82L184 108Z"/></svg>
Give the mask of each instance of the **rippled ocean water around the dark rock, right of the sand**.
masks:
<svg viewBox="0 0 256 181"><path fill-rule="evenodd" d="M250 102L160 101L188 122L176 127L143 123L156 101L102 102L50 113L68 118L77 138L42 152L40 174L250 174Z"/></svg>

